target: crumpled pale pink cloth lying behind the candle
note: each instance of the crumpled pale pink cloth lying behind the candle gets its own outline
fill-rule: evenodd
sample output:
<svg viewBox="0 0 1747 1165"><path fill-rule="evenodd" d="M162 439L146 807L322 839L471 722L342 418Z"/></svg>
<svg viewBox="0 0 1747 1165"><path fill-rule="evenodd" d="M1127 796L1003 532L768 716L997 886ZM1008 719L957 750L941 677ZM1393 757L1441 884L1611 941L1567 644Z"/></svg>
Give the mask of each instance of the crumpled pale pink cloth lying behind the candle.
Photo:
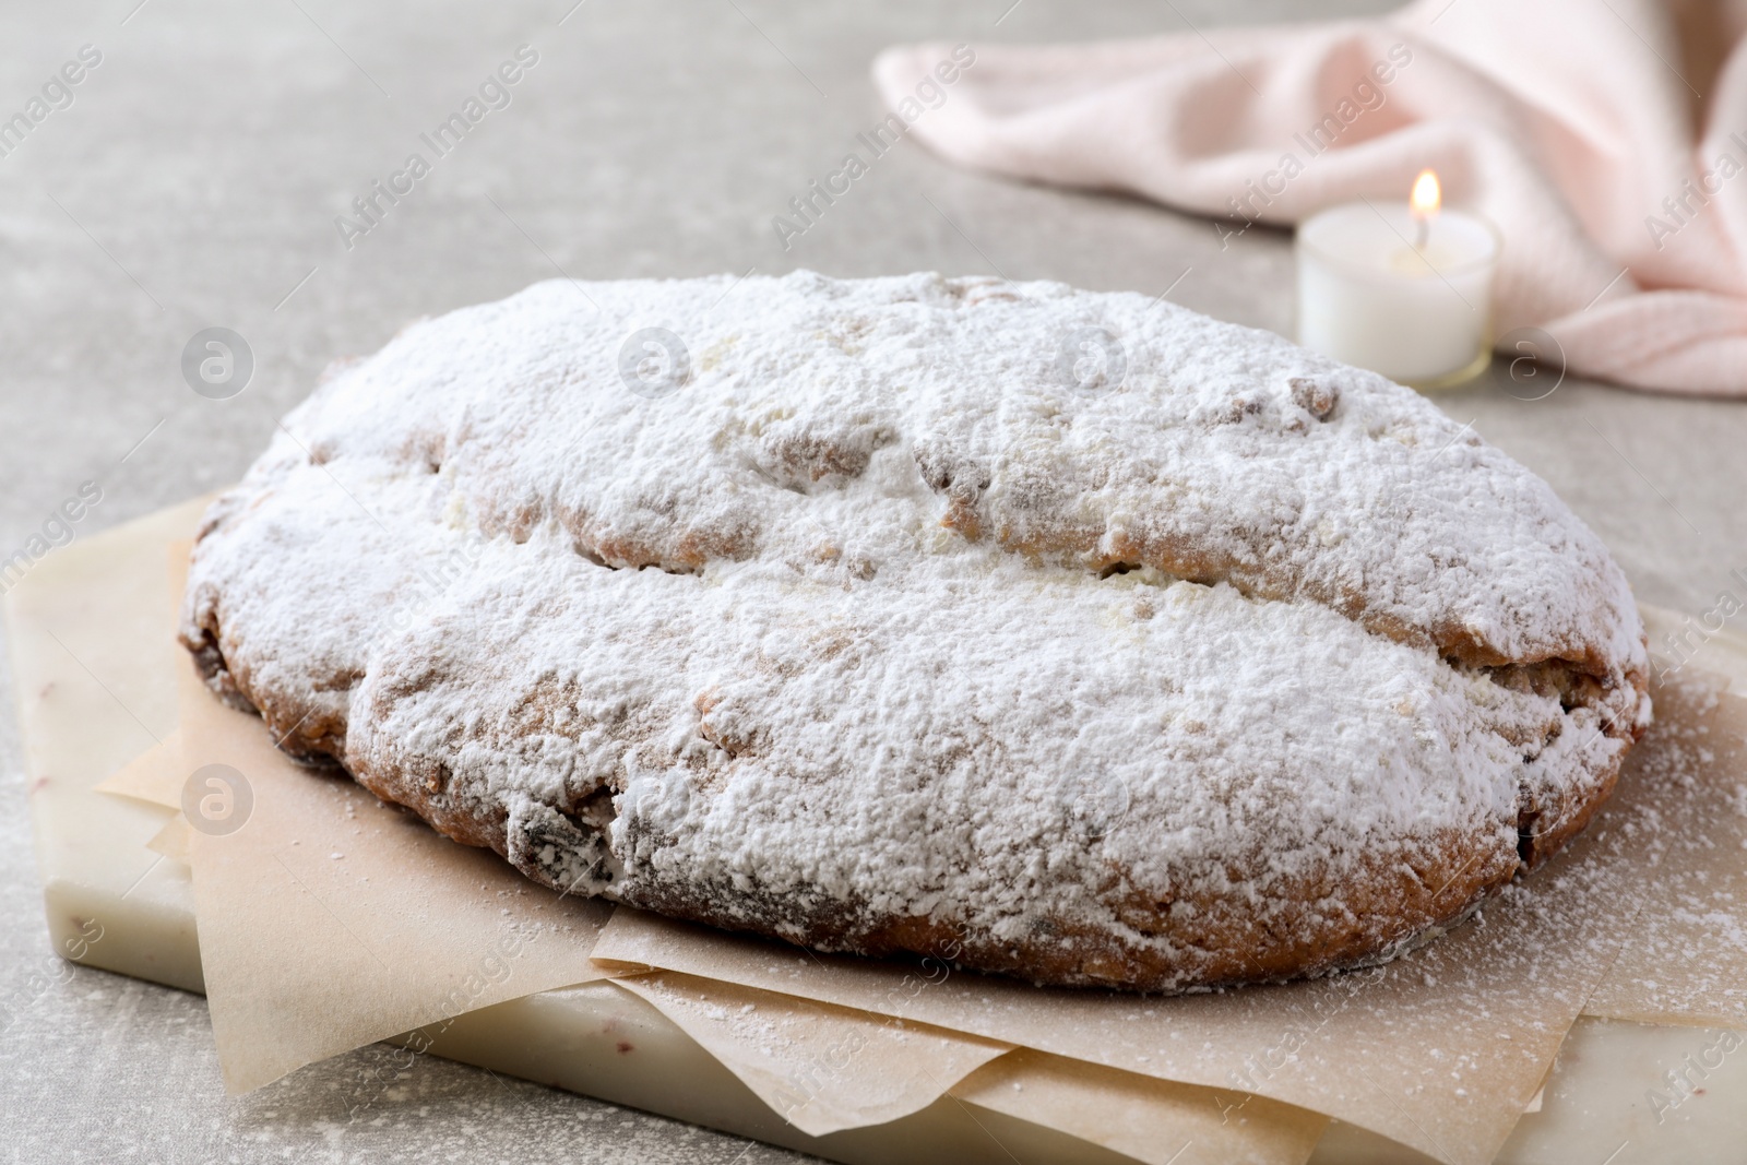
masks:
<svg viewBox="0 0 1747 1165"><path fill-rule="evenodd" d="M1385 19L1137 42L887 49L874 75L943 157L1293 224L1445 199L1504 234L1497 332L1572 372L1747 396L1747 2L1424 0ZM1700 96L1703 94L1703 96ZM917 114L917 108L922 112ZM1291 159L1291 161L1288 161Z"/></svg>

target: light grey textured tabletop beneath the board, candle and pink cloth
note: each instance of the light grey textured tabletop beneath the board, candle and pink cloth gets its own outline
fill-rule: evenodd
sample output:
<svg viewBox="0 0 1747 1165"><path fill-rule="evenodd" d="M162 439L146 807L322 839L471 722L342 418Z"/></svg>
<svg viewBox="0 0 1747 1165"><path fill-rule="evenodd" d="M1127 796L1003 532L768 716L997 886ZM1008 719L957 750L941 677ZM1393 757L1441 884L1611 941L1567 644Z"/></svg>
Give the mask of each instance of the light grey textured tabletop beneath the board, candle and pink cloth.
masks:
<svg viewBox="0 0 1747 1165"><path fill-rule="evenodd" d="M72 107L0 157L0 557L84 480L103 500L79 536L234 480L332 356L561 271L999 271L1174 286L1188 307L1284 330L1284 234L1251 231L1221 250L1207 222L956 171L914 143L882 157L793 250L770 218L872 124L868 61L886 44L1129 37L1391 7L136 2L0 7L0 115L80 45L103 54ZM334 217L522 44L540 59L510 107L346 250ZM180 374L183 344L213 325L243 334L257 362L246 391L222 402ZM1698 611L1747 568L1747 403L1574 381L1522 402L1497 377L1440 403L1544 475L1642 599ZM0 1153L802 1160L430 1057L370 1121L348 1125L342 1088L386 1057L379 1048L225 1099L201 999L52 962L5 695L0 1003L23 997L33 975L56 982L0 1036Z"/></svg>

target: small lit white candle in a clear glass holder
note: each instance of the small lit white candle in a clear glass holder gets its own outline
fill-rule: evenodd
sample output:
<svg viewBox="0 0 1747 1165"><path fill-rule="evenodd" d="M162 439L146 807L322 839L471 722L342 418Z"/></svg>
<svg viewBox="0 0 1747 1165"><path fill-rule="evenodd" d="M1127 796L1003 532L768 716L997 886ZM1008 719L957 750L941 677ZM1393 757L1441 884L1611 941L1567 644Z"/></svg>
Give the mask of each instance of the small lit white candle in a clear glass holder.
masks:
<svg viewBox="0 0 1747 1165"><path fill-rule="evenodd" d="M1443 208L1438 175L1408 203L1347 203L1298 227L1298 342L1415 388L1445 388L1492 358L1499 234Z"/></svg>

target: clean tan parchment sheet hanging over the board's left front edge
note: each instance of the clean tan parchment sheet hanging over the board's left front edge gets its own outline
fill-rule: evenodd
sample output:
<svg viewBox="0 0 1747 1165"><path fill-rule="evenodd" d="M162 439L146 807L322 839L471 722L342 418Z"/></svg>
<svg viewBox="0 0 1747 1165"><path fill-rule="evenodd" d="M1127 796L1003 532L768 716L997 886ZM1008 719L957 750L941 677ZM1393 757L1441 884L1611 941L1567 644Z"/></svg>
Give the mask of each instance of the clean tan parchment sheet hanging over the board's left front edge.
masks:
<svg viewBox="0 0 1747 1165"><path fill-rule="evenodd" d="M171 554L180 596L187 545ZM604 903L561 898L351 779L295 765L259 716L213 699L190 664L178 683L183 769L229 765L252 802L234 831L192 821L187 833L229 1092L451 1015L599 978L589 952L610 913Z"/></svg>

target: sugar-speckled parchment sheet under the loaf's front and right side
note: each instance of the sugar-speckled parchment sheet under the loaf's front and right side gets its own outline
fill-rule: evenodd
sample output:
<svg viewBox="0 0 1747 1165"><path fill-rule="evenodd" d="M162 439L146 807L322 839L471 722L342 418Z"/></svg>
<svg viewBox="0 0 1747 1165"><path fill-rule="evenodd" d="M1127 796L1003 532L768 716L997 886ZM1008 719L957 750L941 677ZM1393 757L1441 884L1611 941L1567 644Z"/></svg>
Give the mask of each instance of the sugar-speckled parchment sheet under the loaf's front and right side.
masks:
<svg viewBox="0 0 1747 1165"><path fill-rule="evenodd" d="M1696 732L1716 685L1660 690L1656 732ZM1730 697L1733 700L1733 697ZM973 1032L1113 1069L1260 1095L1447 1162L1490 1162L1656 887L1702 865L1705 796L1726 758L1644 748L1597 823L1469 926L1396 962L1284 987L1137 999L811 952L618 910L594 957ZM1737 851L1738 854L1738 851ZM1728 859L1738 863L1738 856ZM1698 865L1682 872L1710 877Z"/></svg>

